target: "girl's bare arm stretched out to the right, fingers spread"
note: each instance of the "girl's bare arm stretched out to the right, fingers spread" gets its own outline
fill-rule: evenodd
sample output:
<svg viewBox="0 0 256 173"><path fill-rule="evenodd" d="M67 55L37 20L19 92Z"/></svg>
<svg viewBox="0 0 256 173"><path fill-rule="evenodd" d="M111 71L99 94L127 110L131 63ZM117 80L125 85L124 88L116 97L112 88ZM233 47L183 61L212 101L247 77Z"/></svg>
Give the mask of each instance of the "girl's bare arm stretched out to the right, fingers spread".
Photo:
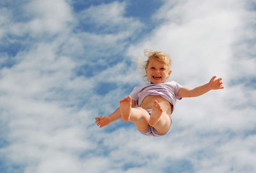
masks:
<svg viewBox="0 0 256 173"><path fill-rule="evenodd" d="M194 89L189 89L186 87L181 87L177 93L179 97L196 97L201 96L202 94L211 91L212 89L223 89L223 82L222 79L216 79L216 76L212 77L209 83L204 84L204 86L195 87Z"/></svg>

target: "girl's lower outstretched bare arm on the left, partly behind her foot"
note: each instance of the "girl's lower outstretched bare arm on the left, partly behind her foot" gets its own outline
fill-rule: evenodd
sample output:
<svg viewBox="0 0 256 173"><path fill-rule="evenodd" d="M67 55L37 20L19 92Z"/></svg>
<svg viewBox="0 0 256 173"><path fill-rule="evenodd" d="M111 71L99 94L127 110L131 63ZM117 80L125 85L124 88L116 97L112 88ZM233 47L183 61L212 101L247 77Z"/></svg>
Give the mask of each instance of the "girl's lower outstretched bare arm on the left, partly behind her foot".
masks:
<svg viewBox="0 0 256 173"><path fill-rule="evenodd" d="M136 107L136 102L134 100L132 100L131 107ZM95 123L97 123L97 126L102 128L104 126L108 126L108 124L113 123L114 121L120 119L121 117L122 115L121 115L120 109L118 108L115 110L115 112L113 112L109 116L96 117Z"/></svg>

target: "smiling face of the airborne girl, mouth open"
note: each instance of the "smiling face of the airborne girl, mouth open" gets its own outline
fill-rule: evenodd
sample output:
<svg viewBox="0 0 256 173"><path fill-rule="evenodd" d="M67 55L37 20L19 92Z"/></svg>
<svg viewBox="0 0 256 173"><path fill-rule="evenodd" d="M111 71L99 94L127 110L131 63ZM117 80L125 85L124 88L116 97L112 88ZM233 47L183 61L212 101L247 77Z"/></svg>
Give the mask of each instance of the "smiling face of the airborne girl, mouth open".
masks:
<svg viewBox="0 0 256 173"><path fill-rule="evenodd" d="M148 80L150 80L152 84L164 83L172 73L169 66L166 66L166 64L158 61L157 59L150 59L145 71L148 76Z"/></svg>

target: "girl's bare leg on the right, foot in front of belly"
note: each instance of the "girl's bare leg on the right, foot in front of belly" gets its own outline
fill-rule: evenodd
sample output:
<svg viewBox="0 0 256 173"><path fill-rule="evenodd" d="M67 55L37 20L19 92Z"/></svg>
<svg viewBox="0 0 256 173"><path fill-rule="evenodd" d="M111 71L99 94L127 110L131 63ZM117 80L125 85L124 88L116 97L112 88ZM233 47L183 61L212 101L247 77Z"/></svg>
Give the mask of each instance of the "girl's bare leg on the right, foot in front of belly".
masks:
<svg viewBox="0 0 256 173"><path fill-rule="evenodd" d="M152 106L152 114L148 124L153 126L158 133L166 133L170 129L170 117L156 100Z"/></svg>

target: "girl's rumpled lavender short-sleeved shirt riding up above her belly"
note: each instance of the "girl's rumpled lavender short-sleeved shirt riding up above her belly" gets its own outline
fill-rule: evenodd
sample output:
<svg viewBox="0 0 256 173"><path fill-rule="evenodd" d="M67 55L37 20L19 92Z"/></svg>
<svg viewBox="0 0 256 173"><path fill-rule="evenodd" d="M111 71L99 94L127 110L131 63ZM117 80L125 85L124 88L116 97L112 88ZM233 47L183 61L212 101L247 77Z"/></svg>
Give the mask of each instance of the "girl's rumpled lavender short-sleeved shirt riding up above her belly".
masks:
<svg viewBox="0 0 256 173"><path fill-rule="evenodd" d="M172 112L176 104L176 100L181 98L177 96L180 89L180 84L177 82L166 82L161 84L145 84L140 87L134 87L130 94L132 100L135 100L137 105L140 106L146 96L157 95L162 96L172 104Z"/></svg>

